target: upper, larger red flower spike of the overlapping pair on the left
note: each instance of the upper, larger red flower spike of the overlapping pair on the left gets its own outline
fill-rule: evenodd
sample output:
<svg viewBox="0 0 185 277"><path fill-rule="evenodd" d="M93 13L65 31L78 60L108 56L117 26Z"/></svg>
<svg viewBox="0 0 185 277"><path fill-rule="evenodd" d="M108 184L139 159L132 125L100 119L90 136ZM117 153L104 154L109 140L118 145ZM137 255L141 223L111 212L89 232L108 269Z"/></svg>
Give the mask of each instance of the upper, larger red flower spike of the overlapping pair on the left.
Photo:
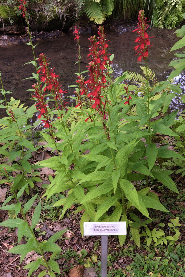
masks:
<svg viewBox="0 0 185 277"><path fill-rule="evenodd" d="M60 85L60 82L58 81L59 75L55 74L54 68L49 69L49 63L46 59L45 54L41 53L38 58L39 61L39 70L37 73L40 75L41 82L44 82L46 84L43 91L45 92L48 90L51 92L53 97L55 98L55 102L57 103L57 109L64 110L66 108L66 104L68 102L65 102L63 99L63 94L67 91L62 89L62 86ZM62 116L62 114L61 114Z"/></svg>

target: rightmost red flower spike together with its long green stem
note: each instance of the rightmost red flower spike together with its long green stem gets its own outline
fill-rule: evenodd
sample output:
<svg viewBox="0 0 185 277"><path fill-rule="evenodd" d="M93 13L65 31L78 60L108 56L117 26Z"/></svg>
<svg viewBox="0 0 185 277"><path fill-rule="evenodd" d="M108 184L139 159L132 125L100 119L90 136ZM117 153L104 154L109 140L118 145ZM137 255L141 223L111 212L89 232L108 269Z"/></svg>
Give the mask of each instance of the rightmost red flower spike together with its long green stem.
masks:
<svg viewBox="0 0 185 277"><path fill-rule="evenodd" d="M150 37L147 34L147 29L149 25L147 24L147 18L145 17L145 11L140 10L138 14L138 23L137 29L133 30L133 32L138 33L138 38L135 39L135 42L139 43L134 47L137 51L136 55L139 55L138 61L140 62L143 58L146 65L146 94L148 96L148 114L150 114L150 95L149 95L149 78L148 78L148 65L147 65L147 57L148 57L148 50L152 46L150 45ZM148 119L148 132L150 133L150 118ZM150 143L150 136L148 136L148 143Z"/></svg>

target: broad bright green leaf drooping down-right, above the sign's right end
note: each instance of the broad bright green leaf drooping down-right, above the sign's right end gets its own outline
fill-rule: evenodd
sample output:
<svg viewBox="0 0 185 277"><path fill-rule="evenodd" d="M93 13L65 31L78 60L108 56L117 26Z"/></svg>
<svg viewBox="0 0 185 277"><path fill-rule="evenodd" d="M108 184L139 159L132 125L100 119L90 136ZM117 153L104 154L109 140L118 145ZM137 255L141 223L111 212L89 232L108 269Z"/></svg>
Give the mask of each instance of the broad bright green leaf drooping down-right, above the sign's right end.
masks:
<svg viewBox="0 0 185 277"><path fill-rule="evenodd" d="M138 206L139 207L139 198L138 198L138 193L129 181L125 179L120 180L120 186L123 189L126 198L132 203L133 206Z"/></svg>

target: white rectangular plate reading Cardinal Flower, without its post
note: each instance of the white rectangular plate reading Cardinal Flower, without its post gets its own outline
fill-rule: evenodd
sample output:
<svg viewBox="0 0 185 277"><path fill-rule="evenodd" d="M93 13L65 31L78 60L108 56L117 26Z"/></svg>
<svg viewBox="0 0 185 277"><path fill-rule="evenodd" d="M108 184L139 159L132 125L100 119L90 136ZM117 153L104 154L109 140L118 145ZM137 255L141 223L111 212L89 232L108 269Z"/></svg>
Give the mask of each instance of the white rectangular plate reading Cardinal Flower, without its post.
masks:
<svg viewBox="0 0 185 277"><path fill-rule="evenodd" d="M126 222L84 222L84 235L126 235Z"/></svg>

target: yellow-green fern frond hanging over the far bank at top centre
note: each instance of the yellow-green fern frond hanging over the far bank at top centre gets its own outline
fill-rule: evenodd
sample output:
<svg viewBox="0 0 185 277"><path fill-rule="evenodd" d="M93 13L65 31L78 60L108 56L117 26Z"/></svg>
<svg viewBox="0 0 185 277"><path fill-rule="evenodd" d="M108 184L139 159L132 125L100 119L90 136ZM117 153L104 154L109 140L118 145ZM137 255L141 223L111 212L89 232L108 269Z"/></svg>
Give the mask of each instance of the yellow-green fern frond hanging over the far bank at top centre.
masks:
<svg viewBox="0 0 185 277"><path fill-rule="evenodd" d="M92 0L86 1L84 11L88 18L97 24L102 24L105 20L105 15L101 11L101 7L97 2Z"/></svg>

